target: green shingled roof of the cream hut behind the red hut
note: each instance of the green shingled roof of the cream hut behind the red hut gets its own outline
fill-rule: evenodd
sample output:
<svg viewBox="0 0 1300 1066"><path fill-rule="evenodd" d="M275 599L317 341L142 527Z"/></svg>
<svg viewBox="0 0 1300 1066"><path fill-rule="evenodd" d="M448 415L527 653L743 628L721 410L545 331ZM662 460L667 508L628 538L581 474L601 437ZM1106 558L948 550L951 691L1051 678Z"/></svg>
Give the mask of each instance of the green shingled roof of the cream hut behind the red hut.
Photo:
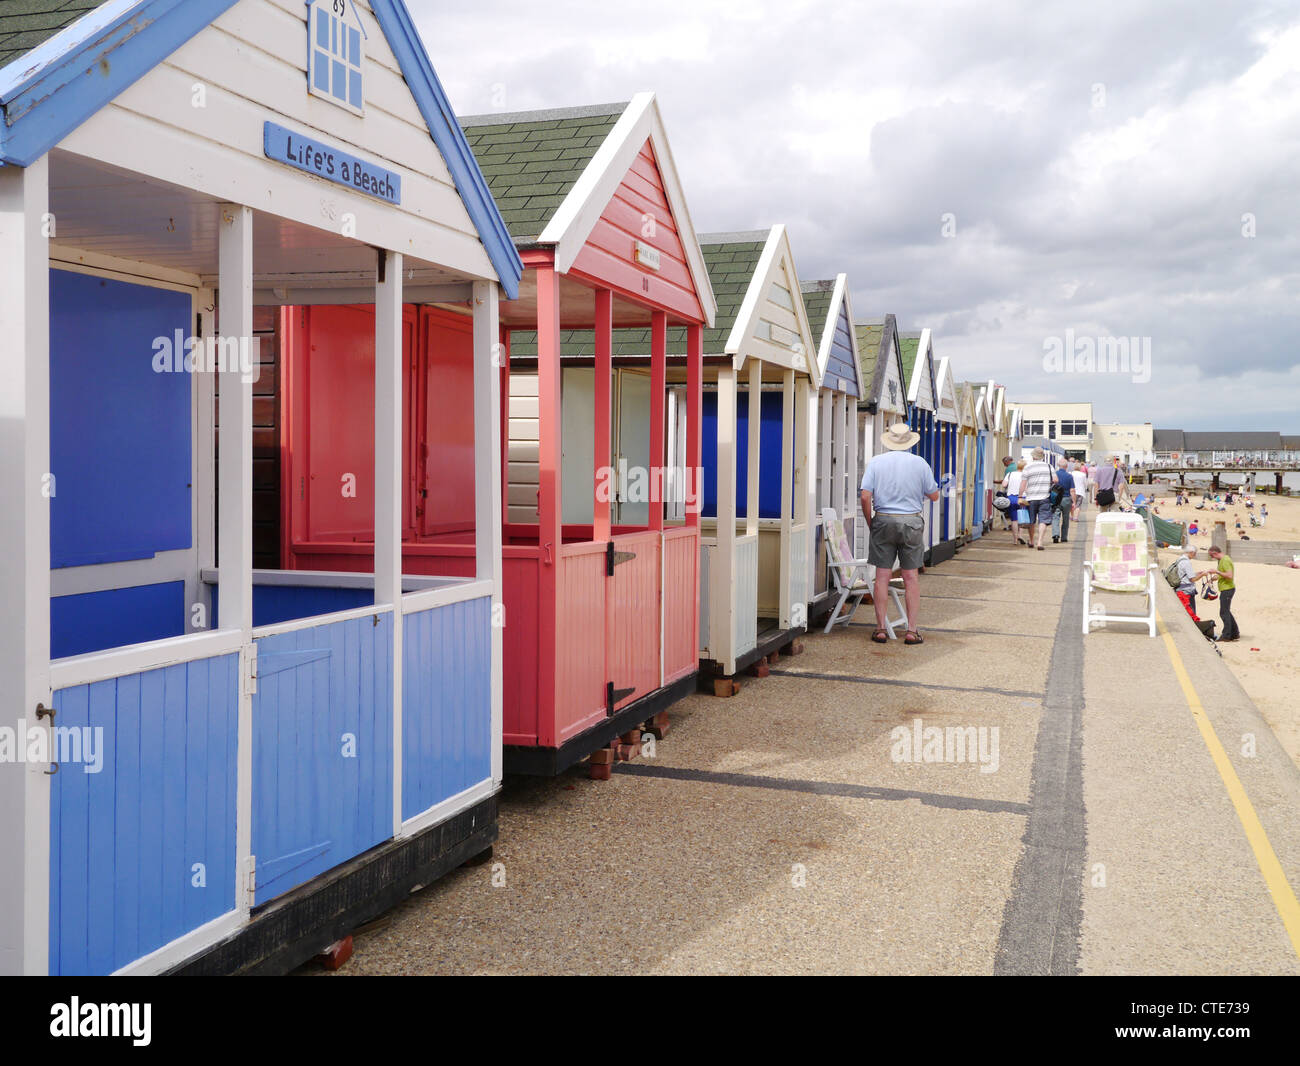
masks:
<svg viewBox="0 0 1300 1066"><path fill-rule="evenodd" d="M699 251L708 268L708 282L718 300L718 315L712 328L705 329L705 355L722 355L736 325L736 315L745 300L754 270L767 244L767 230L753 233L701 234ZM824 312L823 312L824 317ZM650 355L649 329L614 330L615 359L636 359ZM686 354L686 330L668 330L668 355ZM537 333L515 330L510 335L510 355L514 359L537 358ZM562 359L592 359L595 355L594 334L589 329L567 329L560 333Z"/></svg>

